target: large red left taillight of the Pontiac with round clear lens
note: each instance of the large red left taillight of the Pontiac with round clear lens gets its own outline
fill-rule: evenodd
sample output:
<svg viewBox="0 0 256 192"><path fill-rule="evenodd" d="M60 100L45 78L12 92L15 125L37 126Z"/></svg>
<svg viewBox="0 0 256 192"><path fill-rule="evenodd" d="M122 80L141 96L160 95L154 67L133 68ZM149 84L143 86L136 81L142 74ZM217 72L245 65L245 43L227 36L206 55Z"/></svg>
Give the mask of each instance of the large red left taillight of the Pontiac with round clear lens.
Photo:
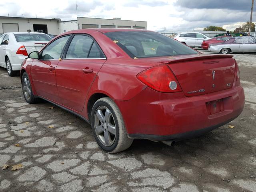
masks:
<svg viewBox="0 0 256 192"><path fill-rule="evenodd" d="M178 80L167 65L159 65L140 72L137 78L159 92L180 92Z"/></svg>

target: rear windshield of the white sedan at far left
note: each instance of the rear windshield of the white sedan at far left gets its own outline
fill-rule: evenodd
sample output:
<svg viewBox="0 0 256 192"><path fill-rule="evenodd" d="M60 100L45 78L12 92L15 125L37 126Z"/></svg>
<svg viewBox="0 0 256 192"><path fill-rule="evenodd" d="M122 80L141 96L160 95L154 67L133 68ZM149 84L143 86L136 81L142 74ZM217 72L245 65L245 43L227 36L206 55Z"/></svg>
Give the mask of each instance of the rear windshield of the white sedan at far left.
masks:
<svg viewBox="0 0 256 192"><path fill-rule="evenodd" d="M17 42L26 42L26 41L50 41L51 38L46 34L14 34Z"/></svg>

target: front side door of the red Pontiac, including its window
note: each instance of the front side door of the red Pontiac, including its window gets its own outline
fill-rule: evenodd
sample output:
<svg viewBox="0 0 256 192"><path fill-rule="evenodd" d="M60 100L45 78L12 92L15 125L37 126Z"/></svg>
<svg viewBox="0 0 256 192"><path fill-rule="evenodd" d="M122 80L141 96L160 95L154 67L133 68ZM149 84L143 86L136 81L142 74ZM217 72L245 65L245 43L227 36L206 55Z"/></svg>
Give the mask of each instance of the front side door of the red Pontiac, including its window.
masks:
<svg viewBox="0 0 256 192"><path fill-rule="evenodd" d="M59 102L56 87L56 67L69 36L62 36L44 48L31 65L31 75L38 96Z"/></svg>

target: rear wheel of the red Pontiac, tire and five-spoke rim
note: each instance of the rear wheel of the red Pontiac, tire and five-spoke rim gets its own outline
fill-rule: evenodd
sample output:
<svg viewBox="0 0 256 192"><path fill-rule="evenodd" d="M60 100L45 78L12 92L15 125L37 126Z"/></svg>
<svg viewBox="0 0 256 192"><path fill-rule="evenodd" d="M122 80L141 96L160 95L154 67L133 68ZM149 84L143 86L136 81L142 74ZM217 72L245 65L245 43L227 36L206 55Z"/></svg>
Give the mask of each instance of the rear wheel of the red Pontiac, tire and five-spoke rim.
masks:
<svg viewBox="0 0 256 192"><path fill-rule="evenodd" d="M118 106L108 97L95 102L92 107L91 125L98 145L108 153L126 150L133 142L126 134Z"/></svg>

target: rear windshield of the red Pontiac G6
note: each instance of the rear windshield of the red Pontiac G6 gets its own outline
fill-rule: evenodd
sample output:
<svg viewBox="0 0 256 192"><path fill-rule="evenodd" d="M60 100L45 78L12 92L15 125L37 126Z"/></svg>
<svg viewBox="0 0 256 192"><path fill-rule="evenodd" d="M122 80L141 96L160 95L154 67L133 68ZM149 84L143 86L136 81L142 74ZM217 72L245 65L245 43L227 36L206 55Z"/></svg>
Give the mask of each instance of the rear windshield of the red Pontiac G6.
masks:
<svg viewBox="0 0 256 192"><path fill-rule="evenodd" d="M192 48L157 32L104 33L132 58L198 54Z"/></svg>

